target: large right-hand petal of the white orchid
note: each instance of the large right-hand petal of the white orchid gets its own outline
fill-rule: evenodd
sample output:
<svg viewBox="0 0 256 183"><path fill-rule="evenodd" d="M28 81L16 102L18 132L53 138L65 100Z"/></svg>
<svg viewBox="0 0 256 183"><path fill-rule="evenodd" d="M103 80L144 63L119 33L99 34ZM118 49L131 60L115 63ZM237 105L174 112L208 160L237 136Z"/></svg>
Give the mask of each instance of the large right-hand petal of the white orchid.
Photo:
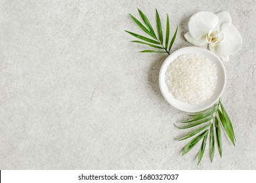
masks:
<svg viewBox="0 0 256 183"><path fill-rule="evenodd" d="M223 55L231 55L238 52L242 48L242 37L238 29L226 22L221 25L221 30L223 41L218 45L219 52Z"/></svg>

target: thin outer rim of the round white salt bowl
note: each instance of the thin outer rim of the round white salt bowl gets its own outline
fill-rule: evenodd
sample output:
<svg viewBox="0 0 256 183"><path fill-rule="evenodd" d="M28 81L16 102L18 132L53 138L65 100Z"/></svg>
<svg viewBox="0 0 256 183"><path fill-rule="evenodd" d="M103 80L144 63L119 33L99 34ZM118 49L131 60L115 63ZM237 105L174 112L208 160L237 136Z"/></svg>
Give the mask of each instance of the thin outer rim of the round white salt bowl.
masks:
<svg viewBox="0 0 256 183"><path fill-rule="evenodd" d="M221 68L223 69L223 76L224 76L224 83L223 83L223 88L221 89L221 92L219 92L219 94L217 95L216 99L213 100L213 102L209 103L209 105L205 105L205 107L203 107L202 109L200 110L184 110L184 108L181 108L181 107L177 107L175 105L175 102L172 102L171 99L169 99L169 97L167 97L167 94L165 93L166 91L163 89L163 86L162 86L162 80L163 82L165 82L165 75L163 75L163 69L165 67L165 65L167 64L167 61L169 60L169 58L171 58L171 56L173 56L174 54L176 54L177 52L182 52L182 50L187 50L187 49L198 49L198 50L203 50L204 52L207 52L208 54L211 54L214 58L216 58L218 60L218 62L221 64ZM211 106L213 106L215 103L217 103L217 101L219 100L219 98L221 97L221 95L223 94L224 92L224 88L226 86L226 69L223 65L223 61L221 61L221 59L216 55L214 54L213 52L207 50L206 48L200 48L198 46L186 46L186 47L183 47L183 48L179 48L177 50L175 50L174 52L172 52L166 59L165 61L163 61L162 65L161 65L161 69L160 69L160 73L159 73L159 78L158 78L158 82L159 82L159 86L160 86L160 91L161 91L161 94L163 95L165 101L167 101L167 103L169 103L169 105L171 105L172 107L174 108L177 108L181 111L184 111L184 112L200 112L200 111L203 111ZM168 91L169 92L169 91Z"/></svg>

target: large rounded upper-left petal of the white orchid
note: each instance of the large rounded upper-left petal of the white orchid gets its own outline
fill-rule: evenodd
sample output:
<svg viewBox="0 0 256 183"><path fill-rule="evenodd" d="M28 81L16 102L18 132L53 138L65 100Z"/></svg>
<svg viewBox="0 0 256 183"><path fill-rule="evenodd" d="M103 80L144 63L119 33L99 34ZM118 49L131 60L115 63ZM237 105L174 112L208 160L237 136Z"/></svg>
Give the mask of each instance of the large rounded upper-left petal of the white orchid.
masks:
<svg viewBox="0 0 256 183"><path fill-rule="evenodd" d="M218 24L218 21L218 16L212 12L198 12L191 16L188 29L192 37L198 40L207 35L209 30Z"/></svg>

